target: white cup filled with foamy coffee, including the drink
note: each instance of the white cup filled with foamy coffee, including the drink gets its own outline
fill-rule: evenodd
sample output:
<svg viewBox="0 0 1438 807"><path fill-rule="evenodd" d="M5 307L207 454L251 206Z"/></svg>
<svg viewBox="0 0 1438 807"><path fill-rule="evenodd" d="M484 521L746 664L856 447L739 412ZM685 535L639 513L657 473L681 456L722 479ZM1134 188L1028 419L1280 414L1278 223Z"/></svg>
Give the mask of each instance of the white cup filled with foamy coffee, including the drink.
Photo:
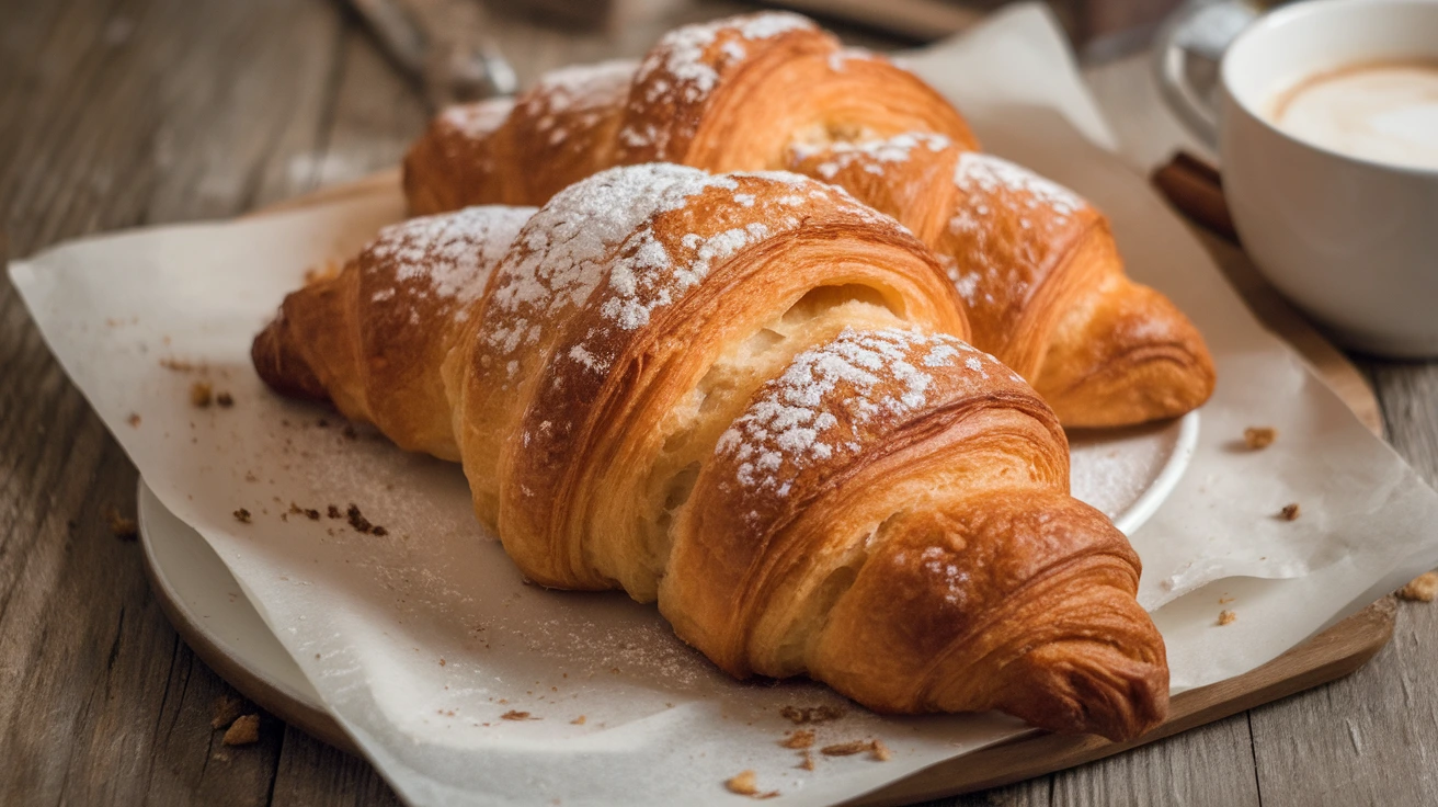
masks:
<svg viewBox="0 0 1438 807"><path fill-rule="evenodd" d="M1166 75L1165 75L1166 73ZM1217 125L1224 196L1264 276L1339 342L1438 355L1438 1L1307 0L1228 45ZM1198 99L1198 101L1195 101Z"/></svg>

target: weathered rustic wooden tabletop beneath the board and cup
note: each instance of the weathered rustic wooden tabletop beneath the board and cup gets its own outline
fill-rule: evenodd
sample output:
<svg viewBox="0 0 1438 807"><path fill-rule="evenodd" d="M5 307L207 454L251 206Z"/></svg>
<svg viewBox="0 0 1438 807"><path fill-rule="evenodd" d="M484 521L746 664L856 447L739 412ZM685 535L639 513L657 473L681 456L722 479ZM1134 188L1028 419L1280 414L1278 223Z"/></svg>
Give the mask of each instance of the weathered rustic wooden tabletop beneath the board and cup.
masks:
<svg viewBox="0 0 1438 807"><path fill-rule="evenodd" d="M529 79L743 7L695 3L610 36L496 24ZM1152 106L1142 75L1129 63L1090 79L1132 111ZM6 0L0 252L229 217L355 178L394 164L424 119L332 0ZM1117 128L1155 160L1155 127L1171 124L1145 112ZM1356 361L1388 439L1434 480L1438 364ZM0 804L397 803L367 762L275 719L255 745L220 744L211 703L229 688L165 621L138 545L106 525L134 495L134 468L0 282ZM1435 647L1438 607L1405 606L1392 644L1345 680L952 803L1438 803Z"/></svg>

